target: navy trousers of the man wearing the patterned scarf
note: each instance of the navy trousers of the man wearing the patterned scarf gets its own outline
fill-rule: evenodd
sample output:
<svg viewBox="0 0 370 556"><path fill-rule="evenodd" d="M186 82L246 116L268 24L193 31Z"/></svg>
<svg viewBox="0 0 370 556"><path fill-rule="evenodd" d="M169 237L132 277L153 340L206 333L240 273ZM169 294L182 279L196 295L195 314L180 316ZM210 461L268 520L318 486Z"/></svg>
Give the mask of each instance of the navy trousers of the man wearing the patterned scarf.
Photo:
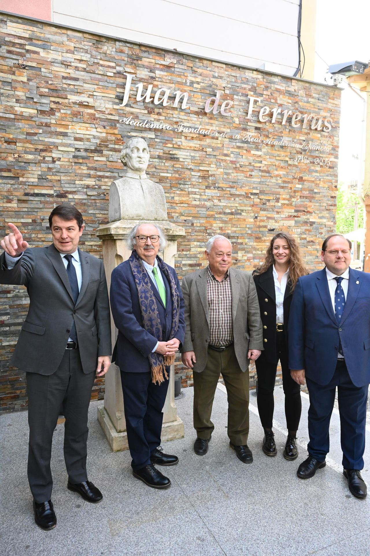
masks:
<svg viewBox="0 0 370 556"><path fill-rule="evenodd" d="M166 368L168 375L170 368ZM163 413L169 380L153 384L151 372L121 370L123 403L131 466L138 470L150 464L150 455L160 446Z"/></svg>

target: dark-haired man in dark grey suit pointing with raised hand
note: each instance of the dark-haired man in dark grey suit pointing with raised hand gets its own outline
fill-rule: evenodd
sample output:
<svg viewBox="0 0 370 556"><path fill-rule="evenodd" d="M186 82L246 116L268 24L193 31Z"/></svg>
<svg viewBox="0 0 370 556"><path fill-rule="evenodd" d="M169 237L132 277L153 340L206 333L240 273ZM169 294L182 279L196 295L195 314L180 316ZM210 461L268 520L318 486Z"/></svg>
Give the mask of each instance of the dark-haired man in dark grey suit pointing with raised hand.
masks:
<svg viewBox="0 0 370 556"><path fill-rule="evenodd" d="M87 478L87 419L95 371L98 376L107 372L111 354L103 262L78 249L82 214L72 205L59 205L49 225L52 245L29 249L21 232L9 224L12 233L1 241L0 256L0 283L24 285L29 295L11 363L26 371L28 481L35 521L45 530L57 524L50 457L60 406L68 489L88 502L103 498Z"/></svg>

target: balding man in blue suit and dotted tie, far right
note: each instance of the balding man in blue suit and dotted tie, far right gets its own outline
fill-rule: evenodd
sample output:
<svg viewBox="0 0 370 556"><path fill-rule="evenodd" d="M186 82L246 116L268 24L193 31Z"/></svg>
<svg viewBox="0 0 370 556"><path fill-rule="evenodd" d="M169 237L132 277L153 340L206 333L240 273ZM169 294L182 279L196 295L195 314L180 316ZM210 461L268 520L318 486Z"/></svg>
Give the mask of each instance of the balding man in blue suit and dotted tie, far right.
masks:
<svg viewBox="0 0 370 556"><path fill-rule="evenodd" d="M325 467L329 425L338 389L343 474L350 492L365 498L361 476L370 382L370 275L349 268L351 242L333 234L322 244L325 268L298 279L288 325L292 378L310 394L308 458L297 475Z"/></svg>

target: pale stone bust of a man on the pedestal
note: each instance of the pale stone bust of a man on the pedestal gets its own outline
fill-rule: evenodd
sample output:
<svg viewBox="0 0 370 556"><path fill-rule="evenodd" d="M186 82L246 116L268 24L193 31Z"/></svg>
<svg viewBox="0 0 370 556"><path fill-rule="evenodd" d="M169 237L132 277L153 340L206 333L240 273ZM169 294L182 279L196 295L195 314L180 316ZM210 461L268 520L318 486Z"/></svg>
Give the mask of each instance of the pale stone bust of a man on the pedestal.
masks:
<svg viewBox="0 0 370 556"><path fill-rule="evenodd" d="M146 141L131 137L123 146L120 160L126 165L127 172L110 184L109 221L167 220L163 187L145 174L149 163Z"/></svg>

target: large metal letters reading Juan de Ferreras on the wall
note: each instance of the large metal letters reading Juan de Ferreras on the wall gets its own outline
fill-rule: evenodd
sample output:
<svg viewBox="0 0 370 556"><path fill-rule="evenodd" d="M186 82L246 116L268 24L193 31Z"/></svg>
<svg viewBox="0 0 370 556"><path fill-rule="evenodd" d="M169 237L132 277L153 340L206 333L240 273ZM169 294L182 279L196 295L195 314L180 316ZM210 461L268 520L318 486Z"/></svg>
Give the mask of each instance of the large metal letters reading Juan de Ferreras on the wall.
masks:
<svg viewBox="0 0 370 556"><path fill-rule="evenodd" d="M131 92L131 84L133 80L133 75L130 73L124 73L127 77L125 83L125 90L122 103L119 105L120 107L126 106ZM188 104L189 102L189 93L182 92L182 91L173 91L171 89L166 89L164 87L159 88L154 97L151 96L153 92L153 85L148 85L147 90L143 93L144 83L139 82L138 85L135 85L137 88L136 93L136 101L144 103L151 103L153 102L154 105L162 105L162 106L169 106L171 101L169 100L170 95L173 95L175 98L172 101L173 107L178 108L179 102L181 101L181 108L191 108L191 105ZM212 112L213 114L221 113L222 116L232 116L232 112L226 111L226 109L231 109L234 102L230 100L226 100L221 103L221 95L222 91L216 90L216 96L207 98L204 106L204 111L206 113ZM255 105L261 104L261 99L259 97L249 97L249 105L248 105L248 112L246 115L246 120L252 120L252 118L257 117L257 120L262 123L271 123L275 124L278 123L282 126L289 126L298 128L302 125L302 129L311 129L323 132L330 132L332 128L332 118L325 117L323 115L315 115L315 114L302 114L301 112L294 112L293 110L282 110L283 107L274 107L270 108L269 106L265 105L262 107L256 107ZM277 119L278 118L278 119ZM147 126L148 127L148 126ZM164 129L164 128L163 128Z"/></svg>

